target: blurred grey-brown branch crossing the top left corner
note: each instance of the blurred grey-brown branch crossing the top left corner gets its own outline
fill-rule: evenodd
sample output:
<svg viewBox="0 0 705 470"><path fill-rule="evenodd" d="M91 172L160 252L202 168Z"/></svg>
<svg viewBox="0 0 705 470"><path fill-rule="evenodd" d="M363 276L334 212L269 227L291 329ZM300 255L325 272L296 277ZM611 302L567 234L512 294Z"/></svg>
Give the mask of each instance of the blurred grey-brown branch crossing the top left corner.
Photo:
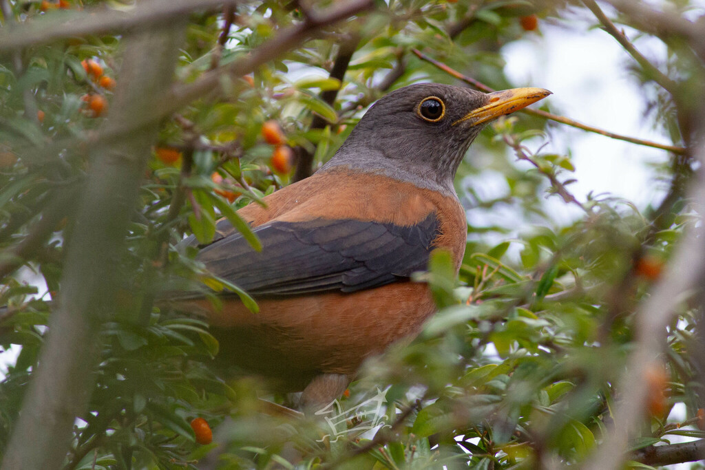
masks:
<svg viewBox="0 0 705 470"><path fill-rule="evenodd" d="M54 42L68 37L87 35L125 34L141 27L170 25L191 11L235 4L227 0L152 0L140 1L129 11L104 7L87 8L75 12L25 23L12 31L0 32L0 52L23 49ZM67 18L68 17L68 18Z"/></svg>

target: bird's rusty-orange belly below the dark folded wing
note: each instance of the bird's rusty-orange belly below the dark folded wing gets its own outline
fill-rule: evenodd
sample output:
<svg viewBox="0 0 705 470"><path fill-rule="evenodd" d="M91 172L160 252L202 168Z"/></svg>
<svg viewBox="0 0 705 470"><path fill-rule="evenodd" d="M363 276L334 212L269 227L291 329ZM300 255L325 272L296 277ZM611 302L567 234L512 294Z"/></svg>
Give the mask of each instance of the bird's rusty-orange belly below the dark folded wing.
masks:
<svg viewBox="0 0 705 470"><path fill-rule="evenodd" d="M237 299L209 314L221 343L219 360L282 378L294 388L319 373L354 376L366 357L413 338L435 309L427 285L411 282L257 303L257 314Z"/></svg>

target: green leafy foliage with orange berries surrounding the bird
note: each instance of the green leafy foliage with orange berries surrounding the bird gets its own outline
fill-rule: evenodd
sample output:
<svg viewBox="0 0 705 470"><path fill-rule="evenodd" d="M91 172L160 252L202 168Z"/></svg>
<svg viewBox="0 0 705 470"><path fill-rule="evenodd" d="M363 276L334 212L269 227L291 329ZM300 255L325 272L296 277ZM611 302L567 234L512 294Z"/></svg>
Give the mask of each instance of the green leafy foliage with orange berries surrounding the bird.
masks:
<svg viewBox="0 0 705 470"><path fill-rule="evenodd" d="M687 2L675 3L687 8ZM4 27L80 15L82 7L118 6L74 0L4 4L12 13ZM192 13L174 79L192 82L238 60L300 21L304 13L294 6L238 5L222 48L216 44L226 16ZM666 213L656 207L642 212L603 195L581 202L574 222L553 220L544 197L560 191L546 175L570 190L566 180L573 168L567 155L536 150L535 130L545 126L537 118L501 120L470 150L458 175L461 200L470 211L501 206L513 215L506 225L470 227L459 280L446 256L434 255L429 273L421 276L434 287L439 314L411 345L368 361L341 399L343 410L353 409L348 414L333 418L340 410L332 409L331 421L324 421L263 413L257 390L266 390L266 383L212 369L219 345L206 324L152 306L155 292L165 288L236 288L209 278L193 253L176 243L190 233L212 240L222 216L247 233L235 210L292 180L293 162L277 166L272 160L277 145L307 151L317 166L384 94L380 84L387 74L396 74L391 88L453 83L410 49L425 50L496 89L541 86L508 82L502 47L540 35L541 22L560 23L574 14L543 1L377 2L362 20L326 28L253 75L223 76L225 99L206 97L165 120L130 224L128 250L121 260L106 260L106 270L121 274L117 313L102 327L97 383L88 412L76 421L64 468L505 469L536 468L546 455L582 462L611 422L613 383L632 348L635 309L694 217L683 203ZM539 30L530 27L532 15ZM20 54L19 70L11 54L0 58L0 305L8 305L0 317L0 344L20 351L0 383L0 450L37 364L47 331L46 301L61 289L63 247L80 230L73 213L90 168L88 150L102 120L110 118L113 89L102 77L123 85L121 40L108 35L37 44ZM356 44L355 54L341 83L329 72L346 42ZM669 52L679 57L681 51ZM675 78L689 74L678 66L674 59L669 73ZM333 89L339 89L336 101L321 99L321 92ZM105 99L103 107L93 104L95 96ZM32 104L37 116L30 113ZM644 103L649 106L668 111L673 103L661 97ZM313 113L328 125L311 128ZM680 144L673 113L656 115L655 125ZM281 125L283 143L262 137L268 120ZM533 163L530 169L515 162L517 151ZM484 200L477 191L479 154L502 175L506 190L500 197ZM663 168L663 177L670 181L678 171ZM15 271L15 264L25 268ZM175 273L182 279L176 285ZM694 323L694 309L683 304L668 329L663 371L654 371L651 381L649 426L633 449L667 443L673 435L705 437L687 426L692 420L681 428L668 419L675 404L685 404L687 418L702 406L689 349ZM288 397L264 396L288 403ZM374 412L355 416L360 404L374 405ZM214 429L214 443L195 443L189 426L195 417ZM389 426L363 433L371 419ZM291 443L300 453L294 464Z"/></svg>

